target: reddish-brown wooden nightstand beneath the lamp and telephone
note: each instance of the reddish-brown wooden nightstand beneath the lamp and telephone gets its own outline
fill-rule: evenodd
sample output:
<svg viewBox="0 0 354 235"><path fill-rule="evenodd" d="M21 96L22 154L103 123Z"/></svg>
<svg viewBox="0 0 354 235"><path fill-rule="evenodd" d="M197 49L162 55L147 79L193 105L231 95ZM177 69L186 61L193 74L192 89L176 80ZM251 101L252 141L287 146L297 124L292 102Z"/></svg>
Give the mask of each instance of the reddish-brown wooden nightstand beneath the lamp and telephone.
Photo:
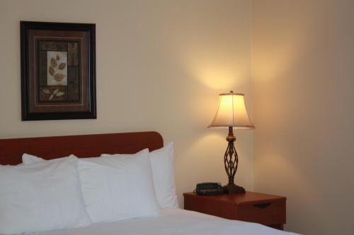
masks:
<svg viewBox="0 0 354 235"><path fill-rule="evenodd" d="M244 194L197 195L183 193L184 209L226 219L238 219L283 229L286 223L286 198L278 195Z"/></svg>

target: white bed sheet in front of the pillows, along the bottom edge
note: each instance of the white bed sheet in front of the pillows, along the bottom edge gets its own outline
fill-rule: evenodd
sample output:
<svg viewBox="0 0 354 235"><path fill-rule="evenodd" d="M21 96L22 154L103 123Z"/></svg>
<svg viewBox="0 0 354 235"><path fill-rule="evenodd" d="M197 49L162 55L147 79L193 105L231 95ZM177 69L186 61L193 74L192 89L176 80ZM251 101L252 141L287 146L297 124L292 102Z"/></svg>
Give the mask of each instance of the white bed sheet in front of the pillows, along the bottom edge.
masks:
<svg viewBox="0 0 354 235"><path fill-rule="evenodd" d="M35 235L290 235L261 224L222 219L199 212L163 209L159 217L125 219L91 224L62 231L45 231Z"/></svg>

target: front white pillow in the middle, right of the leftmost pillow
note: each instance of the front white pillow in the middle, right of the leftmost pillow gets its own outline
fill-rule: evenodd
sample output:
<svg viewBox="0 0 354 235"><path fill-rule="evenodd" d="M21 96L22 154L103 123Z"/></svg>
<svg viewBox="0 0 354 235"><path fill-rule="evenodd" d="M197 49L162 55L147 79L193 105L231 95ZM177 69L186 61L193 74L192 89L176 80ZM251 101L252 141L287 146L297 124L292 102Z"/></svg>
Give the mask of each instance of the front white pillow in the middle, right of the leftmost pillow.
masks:
<svg viewBox="0 0 354 235"><path fill-rule="evenodd" d="M23 155L24 163L32 160L38 158ZM91 222L159 215L149 150L120 157L81 158L78 171Z"/></svg>

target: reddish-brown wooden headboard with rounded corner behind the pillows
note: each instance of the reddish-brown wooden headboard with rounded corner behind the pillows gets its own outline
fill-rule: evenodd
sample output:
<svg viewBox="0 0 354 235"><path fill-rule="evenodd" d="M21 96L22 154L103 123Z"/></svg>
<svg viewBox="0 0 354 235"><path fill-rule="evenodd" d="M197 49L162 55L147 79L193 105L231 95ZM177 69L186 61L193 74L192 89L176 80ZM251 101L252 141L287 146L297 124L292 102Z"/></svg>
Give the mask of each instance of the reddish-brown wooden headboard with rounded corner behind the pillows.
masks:
<svg viewBox="0 0 354 235"><path fill-rule="evenodd" d="M99 157L101 153L135 153L144 148L150 151L164 146L162 136L153 131L69 135L40 138L0 140L0 164L19 164L23 153L44 159L66 157Z"/></svg>

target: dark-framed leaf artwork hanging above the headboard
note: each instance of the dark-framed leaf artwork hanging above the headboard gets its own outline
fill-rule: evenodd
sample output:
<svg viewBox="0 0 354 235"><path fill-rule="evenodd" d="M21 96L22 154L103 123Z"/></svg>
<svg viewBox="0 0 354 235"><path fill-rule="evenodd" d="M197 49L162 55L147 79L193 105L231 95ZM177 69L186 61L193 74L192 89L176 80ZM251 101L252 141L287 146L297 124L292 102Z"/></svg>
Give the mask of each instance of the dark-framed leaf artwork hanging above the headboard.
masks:
<svg viewBox="0 0 354 235"><path fill-rule="evenodd" d="M96 119L94 24L21 21L22 120Z"/></svg>

